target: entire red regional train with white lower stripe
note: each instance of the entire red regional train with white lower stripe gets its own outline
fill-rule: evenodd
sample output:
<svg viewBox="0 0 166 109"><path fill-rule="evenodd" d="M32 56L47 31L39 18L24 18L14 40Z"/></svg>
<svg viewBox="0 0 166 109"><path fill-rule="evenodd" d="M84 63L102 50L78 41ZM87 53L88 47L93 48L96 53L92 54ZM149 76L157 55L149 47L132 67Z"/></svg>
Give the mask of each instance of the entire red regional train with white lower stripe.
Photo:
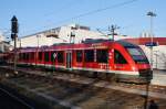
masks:
<svg viewBox="0 0 166 109"><path fill-rule="evenodd" d="M123 41L89 40L81 44L21 48L19 64L73 72L116 75L117 79L145 81L151 65L139 46Z"/></svg>

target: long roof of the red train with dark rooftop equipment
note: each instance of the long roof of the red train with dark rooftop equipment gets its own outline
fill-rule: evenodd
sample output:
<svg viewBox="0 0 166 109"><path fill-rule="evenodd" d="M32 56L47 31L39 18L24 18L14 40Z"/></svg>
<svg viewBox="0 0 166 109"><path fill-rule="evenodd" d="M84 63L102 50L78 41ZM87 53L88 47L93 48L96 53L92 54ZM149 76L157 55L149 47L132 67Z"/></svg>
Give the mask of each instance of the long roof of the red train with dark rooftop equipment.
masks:
<svg viewBox="0 0 166 109"><path fill-rule="evenodd" d="M84 47L90 47L90 48L106 48L108 45L113 43L118 43L125 47L137 47L137 45L125 42L125 41L112 41L112 40L86 40L80 44L73 44L73 43L60 43L55 44L52 46L41 46L41 47L25 47L25 48L20 48L20 52L33 52L33 51L53 51L58 50L61 51L62 48L68 50L68 48L84 48Z"/></svg>

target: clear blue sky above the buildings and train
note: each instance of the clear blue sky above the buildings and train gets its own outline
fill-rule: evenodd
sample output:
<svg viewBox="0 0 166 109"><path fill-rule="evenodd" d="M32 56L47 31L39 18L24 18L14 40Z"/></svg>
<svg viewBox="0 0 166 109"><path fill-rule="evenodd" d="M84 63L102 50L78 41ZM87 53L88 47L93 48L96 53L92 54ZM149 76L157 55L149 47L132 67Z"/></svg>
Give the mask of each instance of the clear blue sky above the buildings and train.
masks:
<svg viewBox="0 0 166 109"><path fill-rule="evenodd" d="M143 31L149 31L146 13L153 11L157 14L155 35L166 36L166 0L135 0L121 6L126 1L132 0L0 0L0 30L10 30L10 20L17 15L19 36L71 23L87 25L92 30L107 30L108 25L116 24L121 34L138 36ZM75 18L107 7L107 10Z"/></svg>

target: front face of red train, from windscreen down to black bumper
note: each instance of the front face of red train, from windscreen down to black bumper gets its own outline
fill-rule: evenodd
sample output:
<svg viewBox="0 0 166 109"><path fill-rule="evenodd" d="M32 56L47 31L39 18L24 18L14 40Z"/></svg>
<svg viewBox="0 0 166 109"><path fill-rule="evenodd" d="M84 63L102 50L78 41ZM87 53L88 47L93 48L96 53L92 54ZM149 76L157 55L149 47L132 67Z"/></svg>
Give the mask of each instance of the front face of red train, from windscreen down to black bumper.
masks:
<svg viewBox="0 0 166 109"><path fill-rule="evenodd" d="M135 63L134 68L139 73L139 80L151 81L151 79L153 78L153 72L143 50L137 45L125 46L125 48L127 50Z"/></svg>

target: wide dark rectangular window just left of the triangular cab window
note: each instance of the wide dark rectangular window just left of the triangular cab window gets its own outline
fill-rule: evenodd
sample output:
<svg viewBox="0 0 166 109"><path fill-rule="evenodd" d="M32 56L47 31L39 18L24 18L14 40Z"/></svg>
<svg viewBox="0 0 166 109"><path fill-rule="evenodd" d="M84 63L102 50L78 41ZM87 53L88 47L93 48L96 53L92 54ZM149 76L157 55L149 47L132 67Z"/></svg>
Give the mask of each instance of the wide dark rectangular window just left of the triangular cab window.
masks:
<svg viewBox="0 0 166 109"><path fill-rule="evenodd" d="M107 50L96 50L96 62L107 63L108 51Z"/></svg>

